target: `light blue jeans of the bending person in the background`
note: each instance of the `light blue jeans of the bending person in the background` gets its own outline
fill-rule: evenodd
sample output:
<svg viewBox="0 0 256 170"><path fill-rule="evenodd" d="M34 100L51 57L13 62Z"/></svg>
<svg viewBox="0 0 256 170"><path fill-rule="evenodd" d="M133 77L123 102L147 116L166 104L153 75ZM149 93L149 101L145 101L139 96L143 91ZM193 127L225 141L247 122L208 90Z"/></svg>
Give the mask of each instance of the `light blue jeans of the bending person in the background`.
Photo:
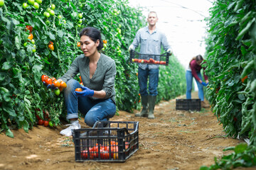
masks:
<svg viewBox="0 0 256 170"><path fill-rule="evenodd" d="M200 72L196 73L199 77L199 79L202 80L202 76ZM191 91L192 91L192 83L193 83L193 75L191 71L186 71L186 84L187 84L187 88L186 88L186 98L187 99L191 99ZM203 98L203 85L196 80L196 84L198 86L198 97L201 99L201 101L204 101Z"/></svg>

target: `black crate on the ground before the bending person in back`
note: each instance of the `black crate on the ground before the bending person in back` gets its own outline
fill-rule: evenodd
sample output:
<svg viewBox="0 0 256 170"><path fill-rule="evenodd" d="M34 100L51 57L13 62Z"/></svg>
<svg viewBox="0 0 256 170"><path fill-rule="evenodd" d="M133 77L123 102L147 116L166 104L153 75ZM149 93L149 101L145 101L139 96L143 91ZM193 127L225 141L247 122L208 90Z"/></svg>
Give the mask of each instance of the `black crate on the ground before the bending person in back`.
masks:
<svg viewBox="0 0 256 170"><path fill-rule="evenodd" d="M176 110L201 111L200 99L176 99Z"/></svg>

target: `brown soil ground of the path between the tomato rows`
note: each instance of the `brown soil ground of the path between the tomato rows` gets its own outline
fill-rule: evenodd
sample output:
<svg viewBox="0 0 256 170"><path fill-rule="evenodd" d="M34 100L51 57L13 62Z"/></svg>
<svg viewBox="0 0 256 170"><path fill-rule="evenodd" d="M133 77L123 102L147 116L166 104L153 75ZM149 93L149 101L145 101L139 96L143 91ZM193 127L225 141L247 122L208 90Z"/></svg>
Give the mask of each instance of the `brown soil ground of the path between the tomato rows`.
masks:
<svg viewBox="0 0 256 170"><path fill-rule="evenodd" d="M197 96L196 93L193 96ZM214 157L230 153L223 152L225 147L244 142L225 137L222 125L210 108L188 112L176 111L175 107L175 99L161 101L155 107L154 120L136 118L133 113L124 111L111 119L139 121L139 150L126 162L75 162L72 137L59 133L64 125L57 128L37 126L28 133L22 129L12 130L14 138L0 134L0 169L193 170L214 164ZM88 128L83 120L80 123L82 128ZM256 168L246 170L250 169Z"/></svg>

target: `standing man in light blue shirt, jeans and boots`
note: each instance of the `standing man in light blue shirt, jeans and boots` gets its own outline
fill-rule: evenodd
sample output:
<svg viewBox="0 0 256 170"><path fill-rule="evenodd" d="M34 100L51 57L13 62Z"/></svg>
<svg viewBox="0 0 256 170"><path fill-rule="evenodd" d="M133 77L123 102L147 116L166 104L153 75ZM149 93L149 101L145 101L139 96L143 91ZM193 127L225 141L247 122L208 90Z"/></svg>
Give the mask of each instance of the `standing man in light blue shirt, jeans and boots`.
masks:
<svg viewBox="0 0 256 170"><path fill-rule="evenodd" d="M171 54L171 47L167 42L166 35L156 28L158 21L156 12L149 12L147 21L149 26L137 31L136 36L129 46L129 51L135 50L141 44L139 52L148 55L160 55L161 45L164 50ZM149 77L149 92L147 90L147 80ZM142 112L135 114L137 117L147 117L154 119L154 106L156 103L157 86L159 81L158 64L139 64L139 93L142 96Z"/></svg>

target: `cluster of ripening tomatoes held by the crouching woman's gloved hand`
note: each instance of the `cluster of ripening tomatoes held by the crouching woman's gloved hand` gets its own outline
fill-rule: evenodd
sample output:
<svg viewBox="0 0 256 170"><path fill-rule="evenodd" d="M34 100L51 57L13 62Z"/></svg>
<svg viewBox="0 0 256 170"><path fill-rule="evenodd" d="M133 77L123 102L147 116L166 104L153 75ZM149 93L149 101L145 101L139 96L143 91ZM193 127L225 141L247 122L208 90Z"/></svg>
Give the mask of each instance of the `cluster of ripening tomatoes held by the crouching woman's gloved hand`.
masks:
<svg viewBox="0 0 256 170"><path fill-rule="evenodd" d="M48 77L46 74L43 74L41 76L41 80L42 82L45 82L46 83L46 86L48 86L50 84L50 86L52 87L57 87L55 90L54 90L54 93L59 96L60 95L60 91L63 91L63 89L65 89L67 87L67 84L65 84L64 81L62 80L56 80L55 77Z"/></svg>

